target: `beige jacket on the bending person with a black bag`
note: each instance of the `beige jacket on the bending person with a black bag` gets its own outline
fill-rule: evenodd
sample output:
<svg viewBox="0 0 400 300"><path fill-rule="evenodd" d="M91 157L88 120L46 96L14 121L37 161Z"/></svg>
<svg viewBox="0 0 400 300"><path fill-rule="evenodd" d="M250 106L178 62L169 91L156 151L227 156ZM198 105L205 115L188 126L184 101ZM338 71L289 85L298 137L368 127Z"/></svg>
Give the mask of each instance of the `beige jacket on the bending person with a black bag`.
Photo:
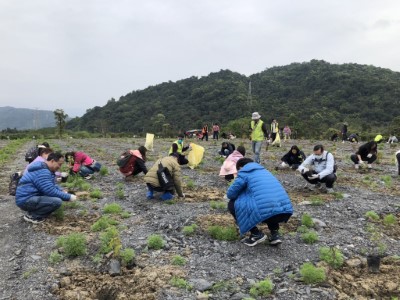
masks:
<svg viewBox="0 0 400 300"><path fill-rule="evenodd" d="M151 169L144 176L144 182L151 184L154 187L160 187L158 181L157 170L160 160L158 159ZM174 180L175 190L179 197L183 197L182 183L181 183L181 166L178 164L178 160L173 156L166 156L161 159L161 163L166 167Z"/></svg>

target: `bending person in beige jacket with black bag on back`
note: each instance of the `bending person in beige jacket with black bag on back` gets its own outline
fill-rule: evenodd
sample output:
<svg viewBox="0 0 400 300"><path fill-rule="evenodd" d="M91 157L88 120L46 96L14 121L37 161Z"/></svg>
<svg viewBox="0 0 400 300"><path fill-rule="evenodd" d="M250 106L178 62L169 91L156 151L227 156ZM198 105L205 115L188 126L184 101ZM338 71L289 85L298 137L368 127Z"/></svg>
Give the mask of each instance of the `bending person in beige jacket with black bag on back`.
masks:
<svg viewBox="0 0 400 300"><path fill-rule="evenodd" d="M178 157L178 153L174 152L169 156L157 160L144 176L144 182L146 182L147 185L147 199L154 199L154 192L163 192L161 200L171 200L174 198L175 191L179 197L185 197L185 194L182 192L182 175L181 167L178 164ZM158 180L157 170L160 163L171 173L174 186L170 190L164 190Z"/></svg>

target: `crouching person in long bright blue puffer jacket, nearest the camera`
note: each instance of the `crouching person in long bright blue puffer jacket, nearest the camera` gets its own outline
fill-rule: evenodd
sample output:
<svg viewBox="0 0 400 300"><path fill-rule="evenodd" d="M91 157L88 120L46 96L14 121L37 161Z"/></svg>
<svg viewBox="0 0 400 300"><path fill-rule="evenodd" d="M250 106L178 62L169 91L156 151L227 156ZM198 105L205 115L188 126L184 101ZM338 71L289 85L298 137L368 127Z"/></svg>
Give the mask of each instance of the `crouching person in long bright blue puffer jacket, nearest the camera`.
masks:
<svg viewBox="0 0 400 300"><path fill-rule="evenodd" d="M239 159L236 169L237 177L227 191L230 199L228 209L239 226L240 234L251 233L244 244L253 247L266 240L257 228L261 222L267 223L271 231L270 245L282 243L279 223L286 223L293 214L285 189L269 171L250 158Z"/></svg>

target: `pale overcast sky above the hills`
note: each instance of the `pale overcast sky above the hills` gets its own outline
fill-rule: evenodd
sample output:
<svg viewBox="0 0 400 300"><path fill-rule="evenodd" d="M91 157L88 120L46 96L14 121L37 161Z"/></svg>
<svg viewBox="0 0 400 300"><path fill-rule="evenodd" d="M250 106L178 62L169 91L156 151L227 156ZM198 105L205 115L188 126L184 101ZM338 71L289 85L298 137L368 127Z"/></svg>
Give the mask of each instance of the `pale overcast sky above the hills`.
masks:
<svg viewBox="0 0 400 300"><path fill-rule="evenodd" d="M80 116L169 80L311 59L400 71L400 1L0 0L0 106Z"/></svg>

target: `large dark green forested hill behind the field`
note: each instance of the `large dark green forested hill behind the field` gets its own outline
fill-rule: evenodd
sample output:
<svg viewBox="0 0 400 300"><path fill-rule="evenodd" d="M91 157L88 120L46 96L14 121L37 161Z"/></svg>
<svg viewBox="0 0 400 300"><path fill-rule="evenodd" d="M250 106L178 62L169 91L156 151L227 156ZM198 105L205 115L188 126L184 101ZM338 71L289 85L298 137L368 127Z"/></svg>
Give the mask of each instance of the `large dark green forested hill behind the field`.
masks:
<svg viewBox="0 0 400 300"><path fill-rule="evenodd" d="M289 124L309 137L315 136L316 130L340 129L344 121L353 131L398 130L392 127L400 123L395 118L399 97L398 72L312 60L249 77L221 70L150 86L87 110L81 118L68 122L67 128L175 133L201 128L204 123L230 126L233 120L250 120L251 112L258 111L264 121L276 118L281 127Z"/></svg>

